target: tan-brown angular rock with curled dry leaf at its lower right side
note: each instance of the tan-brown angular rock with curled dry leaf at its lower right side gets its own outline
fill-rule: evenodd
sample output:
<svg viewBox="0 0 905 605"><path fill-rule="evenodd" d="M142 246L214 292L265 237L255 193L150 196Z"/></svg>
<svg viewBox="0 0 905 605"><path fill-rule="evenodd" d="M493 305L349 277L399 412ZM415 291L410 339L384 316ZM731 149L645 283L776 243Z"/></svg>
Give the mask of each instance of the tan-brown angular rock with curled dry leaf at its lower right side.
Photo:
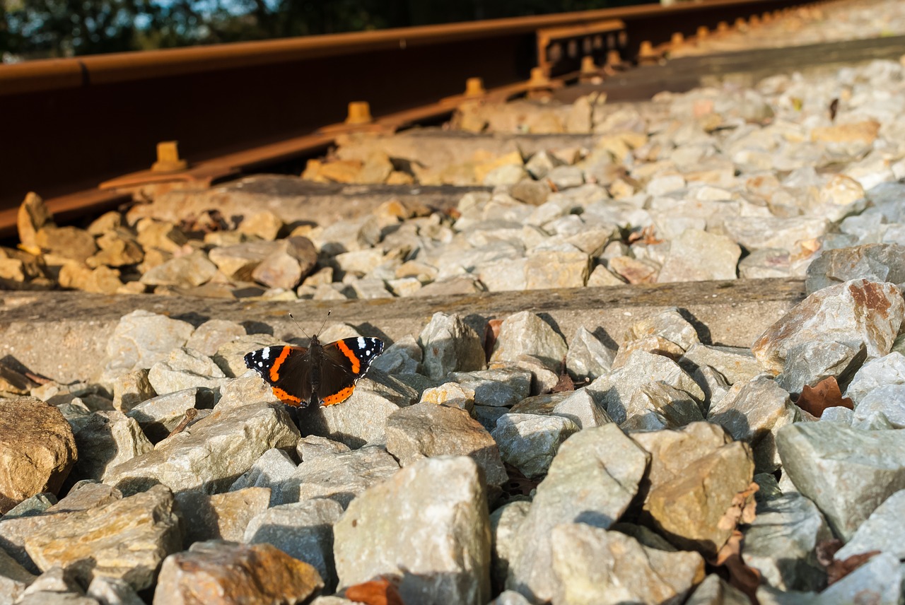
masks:
<svg viewBox="0 0 905 605"><path fill-rule="evenodd" d="M679 548L714 556L733 529L719 520L754 477L751 449L709 422L638 432L632 439L651 455L645 522Z"/></svg>

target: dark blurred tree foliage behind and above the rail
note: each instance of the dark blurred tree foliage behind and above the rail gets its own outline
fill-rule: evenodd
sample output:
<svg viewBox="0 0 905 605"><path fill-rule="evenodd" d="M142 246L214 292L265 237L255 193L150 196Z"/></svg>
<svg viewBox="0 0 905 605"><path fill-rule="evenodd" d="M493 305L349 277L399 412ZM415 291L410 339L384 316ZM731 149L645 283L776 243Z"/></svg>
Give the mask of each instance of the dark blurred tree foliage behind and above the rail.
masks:
<svg viewBox="0 0 905 605"><path fill-rule="evenodd" d="M0 0L0 56L8 61L142 51L559 13L643 1Z"/></svg>

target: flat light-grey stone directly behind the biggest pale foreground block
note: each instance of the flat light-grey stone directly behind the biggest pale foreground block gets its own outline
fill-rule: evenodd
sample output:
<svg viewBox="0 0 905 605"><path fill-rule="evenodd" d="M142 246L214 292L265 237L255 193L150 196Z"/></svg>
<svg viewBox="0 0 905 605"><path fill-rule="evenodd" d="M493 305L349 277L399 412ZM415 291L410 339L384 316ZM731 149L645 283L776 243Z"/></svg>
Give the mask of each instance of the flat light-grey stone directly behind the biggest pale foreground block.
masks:
<svg viewBox="0 0 905 605"><path fill-rule="evenodd" d="M291 482L298 484L303 502L326 497L344 508L368 487L376 485L399 470L399 463L386 449L365 447L352 451L319 456L303 461Z"/></svg>

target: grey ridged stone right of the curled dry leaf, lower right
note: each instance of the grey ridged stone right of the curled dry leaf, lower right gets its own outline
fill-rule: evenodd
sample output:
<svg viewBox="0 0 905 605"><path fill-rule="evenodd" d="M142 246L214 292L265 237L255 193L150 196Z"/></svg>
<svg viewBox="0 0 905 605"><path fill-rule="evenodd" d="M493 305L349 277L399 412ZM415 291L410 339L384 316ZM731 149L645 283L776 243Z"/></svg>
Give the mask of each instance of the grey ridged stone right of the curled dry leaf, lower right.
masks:
<svg viewBox="0 0 905 605"><path fill-rule="evenodd" d="M814 548L833 538L824 515L800 494L757 504L757 518L745 530L742 560L783 591L819 591L826 572Z"/></svg>

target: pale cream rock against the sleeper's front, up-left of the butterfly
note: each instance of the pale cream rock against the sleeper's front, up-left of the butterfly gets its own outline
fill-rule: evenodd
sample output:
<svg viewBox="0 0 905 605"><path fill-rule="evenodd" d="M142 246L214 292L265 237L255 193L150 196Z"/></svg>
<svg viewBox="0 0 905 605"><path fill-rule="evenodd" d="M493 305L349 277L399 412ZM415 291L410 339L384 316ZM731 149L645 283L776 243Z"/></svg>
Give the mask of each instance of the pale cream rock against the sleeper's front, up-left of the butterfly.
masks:
<svg viewBox="0 0 905 605"><path fill-rule="evenodd" d="M123 316L107 341L106 370L119 375L150 368L165 361L176 347L186 345L195 328L178 319L145 310Z"/></svg>

